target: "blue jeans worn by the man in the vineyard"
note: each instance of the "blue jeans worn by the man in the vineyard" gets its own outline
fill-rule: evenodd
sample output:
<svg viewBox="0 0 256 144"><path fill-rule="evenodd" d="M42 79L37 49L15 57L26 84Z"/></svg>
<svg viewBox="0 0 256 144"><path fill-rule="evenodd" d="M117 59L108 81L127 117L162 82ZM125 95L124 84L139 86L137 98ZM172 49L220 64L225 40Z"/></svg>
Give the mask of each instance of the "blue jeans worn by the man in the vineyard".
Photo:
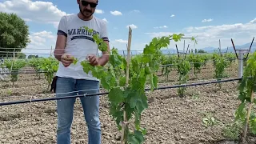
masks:
<svg viewBox="0 0 256 144"><path fill-rule="evenodd" d="M77 94L98 94L99 82L73 78L58 78L56 82L56 97L73 96ZM70 144L70 128L73 121L74 102L76 98L66 98L57 101L58 129L57 143ZM99 121L99 96L80 97L88 128L88 144L101 143L101 123Z"/></svg>

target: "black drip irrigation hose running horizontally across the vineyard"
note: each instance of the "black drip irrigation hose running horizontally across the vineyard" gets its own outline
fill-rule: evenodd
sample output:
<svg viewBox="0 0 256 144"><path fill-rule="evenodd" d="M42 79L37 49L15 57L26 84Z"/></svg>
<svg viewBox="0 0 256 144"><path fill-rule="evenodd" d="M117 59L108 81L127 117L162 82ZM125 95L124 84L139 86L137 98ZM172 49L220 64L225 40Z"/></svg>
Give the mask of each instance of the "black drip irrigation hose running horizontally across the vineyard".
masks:
<svg viewBox="0 0 256 144"><path fill-rule="evenodd" d="M200 86L200 85L208 85L208 84L221 83L221 82L232 82L232 81L239 81L239 80L242 80L242 78L225 79L225 80L218 80L218 81L212 81L212 82L200 82L200 83L191 83L191 84L174 85L174 86L162 86L162 87L155 88L154 90L165 90L165 89L173 89L173 88L187 87L187 86ZM145 90L148 91L150 90L150 88ZM31 99L31 100L17 101L17 102L1 102L0 106L15 105L15 104L22 104L22 103L30 103L30 102L46 102L46 101L54 101L54 100L67 99L67 98L92 97L92 96L99 96L99 95L106 95L106 94L109 94L109 93L105 92L105 93L99 93L99 94L80 94L75 96L58 97L58 98L42 98L42 99L33 99L33 100Z"/></svg>

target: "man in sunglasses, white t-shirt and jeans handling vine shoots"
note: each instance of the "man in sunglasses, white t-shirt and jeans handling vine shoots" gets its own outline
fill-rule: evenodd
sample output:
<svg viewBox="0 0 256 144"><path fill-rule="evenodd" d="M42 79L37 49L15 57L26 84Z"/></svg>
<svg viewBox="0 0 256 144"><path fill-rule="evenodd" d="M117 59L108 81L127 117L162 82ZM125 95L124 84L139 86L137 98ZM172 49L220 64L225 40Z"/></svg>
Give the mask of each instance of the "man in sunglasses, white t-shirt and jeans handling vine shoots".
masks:
<svg viewBox="0 0 256 144"><path fill-rule="evenodd" d="M80 12L63 16L58 25L58 37L54 56L58 59L59 68L56 74L56 97L76 94L97 94L99 81L91 74L86 74L79 62L88 60L92 66L104 66L109 60L108 53L102 52L97 58L98 46L93 41L93 34L99 34L109 48L106 22L93 16L98 0L77 0ZM87 26L94 31L85 29ZM78 58L74 65L71 57ZM70 60L66 60L70 58ZM88 127L89 144L101 143L101 127L99 121L99 96L80 98ZM70 144L70 127L73 121L75 98L57 101L58 130L57 143Z"/></svg>

